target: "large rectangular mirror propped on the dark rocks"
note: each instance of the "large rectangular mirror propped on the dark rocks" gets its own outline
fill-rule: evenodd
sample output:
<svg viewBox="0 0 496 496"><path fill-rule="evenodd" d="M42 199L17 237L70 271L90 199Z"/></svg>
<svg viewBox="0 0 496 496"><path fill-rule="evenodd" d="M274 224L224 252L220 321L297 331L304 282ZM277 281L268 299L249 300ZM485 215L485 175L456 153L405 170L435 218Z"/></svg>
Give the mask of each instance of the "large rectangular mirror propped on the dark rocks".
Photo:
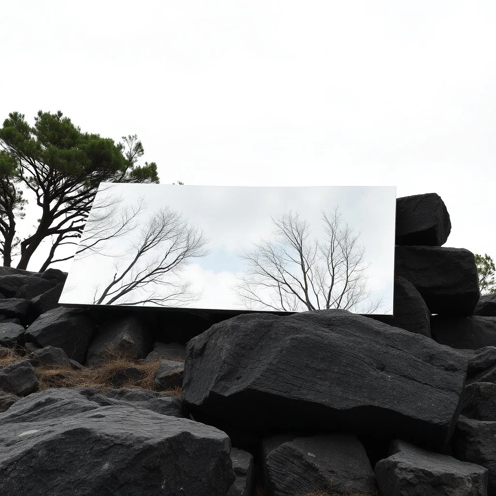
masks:
<svg viewBox="0 0 496 496"><path fill-rule="evenodd" d="M59 303L392 314L395 187L102 183Z"/></svg>

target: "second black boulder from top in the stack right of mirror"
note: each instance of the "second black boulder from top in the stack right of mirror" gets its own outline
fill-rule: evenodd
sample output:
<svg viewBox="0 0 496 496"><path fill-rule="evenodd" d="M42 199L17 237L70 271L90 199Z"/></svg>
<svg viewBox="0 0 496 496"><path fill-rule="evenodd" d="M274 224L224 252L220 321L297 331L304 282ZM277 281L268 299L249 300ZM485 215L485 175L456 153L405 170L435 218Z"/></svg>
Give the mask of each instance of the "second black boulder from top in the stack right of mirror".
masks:
<svg viewBox="0 0 496 496"><path fill-rule="evenodd" d="M431 313L472 315L479 300L475 257L463 248L396 247L394 272L415 286Z"/></svg>

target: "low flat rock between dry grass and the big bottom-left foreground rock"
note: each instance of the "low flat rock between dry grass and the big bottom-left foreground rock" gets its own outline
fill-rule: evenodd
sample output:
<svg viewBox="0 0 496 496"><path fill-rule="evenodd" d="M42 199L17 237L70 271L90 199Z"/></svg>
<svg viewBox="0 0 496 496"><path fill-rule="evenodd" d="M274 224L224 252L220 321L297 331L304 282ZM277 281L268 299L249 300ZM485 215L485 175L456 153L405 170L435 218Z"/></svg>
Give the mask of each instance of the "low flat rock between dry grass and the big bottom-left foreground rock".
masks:
<svg viewBox="0 0 496 496"><path fill-rule="evenodd" d="M174 394L147 389L111 387L78 387L74 390L100 406L126 405L132 408L144 408L161 415L186 418L183 403Z"/></svg>

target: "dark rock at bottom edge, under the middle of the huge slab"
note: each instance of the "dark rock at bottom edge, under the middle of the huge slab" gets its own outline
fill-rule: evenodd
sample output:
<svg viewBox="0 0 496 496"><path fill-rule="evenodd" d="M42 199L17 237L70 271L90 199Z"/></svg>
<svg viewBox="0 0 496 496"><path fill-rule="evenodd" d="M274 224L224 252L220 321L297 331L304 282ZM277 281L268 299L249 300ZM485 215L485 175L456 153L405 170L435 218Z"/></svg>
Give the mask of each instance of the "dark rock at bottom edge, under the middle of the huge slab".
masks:
<svg viewBox="0 0 496 496"><path fill-rule="evenodd" d="M265 487L272 496L373 494L377 490L365 448L352 435L290 438L262 444Z"/></svg>

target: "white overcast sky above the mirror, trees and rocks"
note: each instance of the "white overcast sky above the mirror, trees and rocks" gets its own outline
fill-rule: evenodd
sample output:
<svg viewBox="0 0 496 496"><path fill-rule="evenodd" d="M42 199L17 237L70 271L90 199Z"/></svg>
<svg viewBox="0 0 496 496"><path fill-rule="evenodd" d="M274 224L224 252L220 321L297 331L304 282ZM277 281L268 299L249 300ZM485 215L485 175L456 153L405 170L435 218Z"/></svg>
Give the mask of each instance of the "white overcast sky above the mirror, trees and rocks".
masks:
<svg viewBox="0 0 496 496"><path fill-rule="evenodd" d="M445 246L496 258L495 25L491 0L1 2L0 117L137 133L166 184L436 192Z"/></svg>

